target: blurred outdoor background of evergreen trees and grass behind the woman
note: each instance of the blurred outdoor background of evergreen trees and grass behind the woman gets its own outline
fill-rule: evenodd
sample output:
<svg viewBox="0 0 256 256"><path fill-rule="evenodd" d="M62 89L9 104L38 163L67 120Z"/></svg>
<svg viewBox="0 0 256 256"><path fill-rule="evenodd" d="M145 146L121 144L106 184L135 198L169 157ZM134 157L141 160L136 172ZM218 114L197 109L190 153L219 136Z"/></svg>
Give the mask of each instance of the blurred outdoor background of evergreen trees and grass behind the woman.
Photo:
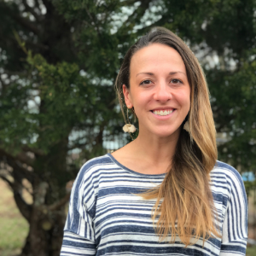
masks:
<svg viewBox="0 0 256 256"><path fill-rule="evenodd" d="M165 26L206 73L256 255L255 19L256 0L0 0L0 254L59 255L79 168L130 141L113 90L122 58Z"/></svg>

